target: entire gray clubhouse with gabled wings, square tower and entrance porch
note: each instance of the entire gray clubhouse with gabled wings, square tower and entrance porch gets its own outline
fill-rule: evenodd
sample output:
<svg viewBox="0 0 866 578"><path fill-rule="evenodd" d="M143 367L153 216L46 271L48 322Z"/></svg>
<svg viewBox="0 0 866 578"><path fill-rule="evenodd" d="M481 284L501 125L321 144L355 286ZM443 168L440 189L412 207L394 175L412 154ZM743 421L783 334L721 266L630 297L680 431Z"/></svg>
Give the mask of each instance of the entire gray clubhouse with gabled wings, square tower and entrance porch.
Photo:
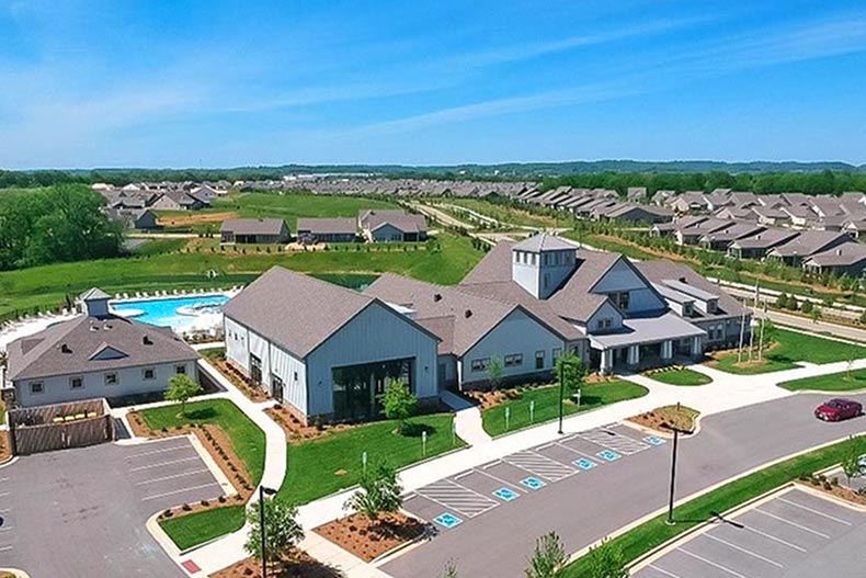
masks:
<svg viewBox="0 0 866 578"><path fill-rule="evenodd" d="M454 286L384 274L358 293L274 268L224 314L228 360L305 420L373 418L390 378L434 401L551 378L567 351L605 374L698 359L751 322L685 265L547 234L500 242Z"/></svg>

